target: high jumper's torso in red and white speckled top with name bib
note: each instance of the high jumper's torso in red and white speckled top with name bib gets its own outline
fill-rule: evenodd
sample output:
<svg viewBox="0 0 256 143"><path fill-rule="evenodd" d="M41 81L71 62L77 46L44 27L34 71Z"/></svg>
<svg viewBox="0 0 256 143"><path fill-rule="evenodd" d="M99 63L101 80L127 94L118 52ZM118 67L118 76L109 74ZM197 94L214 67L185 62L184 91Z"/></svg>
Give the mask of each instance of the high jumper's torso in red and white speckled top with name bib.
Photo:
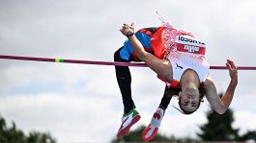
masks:
<svg viewBox="0 0 256 143"><path fill-rule="evenodd" d="M165 28L158 28L151 42L156 56L169 60L172 64L173 81L169 82L158 76L168 86L180 85L180 80L187 69L192 69L197 73L200 83L205 82L210 65L205 60L206 45L204 42L173 27L167 31Z"/></svg>

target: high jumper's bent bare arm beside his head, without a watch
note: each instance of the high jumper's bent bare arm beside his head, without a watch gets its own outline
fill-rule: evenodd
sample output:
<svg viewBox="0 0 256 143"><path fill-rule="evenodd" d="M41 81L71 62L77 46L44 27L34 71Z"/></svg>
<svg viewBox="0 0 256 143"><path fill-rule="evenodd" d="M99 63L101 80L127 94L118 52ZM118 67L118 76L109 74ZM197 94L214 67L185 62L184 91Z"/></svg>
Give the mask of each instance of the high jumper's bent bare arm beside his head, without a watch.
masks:
<svg viewBox="0 0 256 143"><path fill-rule="evenodd" d="M231 60L227 60L226 65L229 69L231 81L221 99L217 95L216 87L213 83L213 80L210 77L208 77L208 79L205 82L206 98L213 107L213 109L219 114L223 114L231 104L235 93L235 89L238 84L238 68Z"/></svg>

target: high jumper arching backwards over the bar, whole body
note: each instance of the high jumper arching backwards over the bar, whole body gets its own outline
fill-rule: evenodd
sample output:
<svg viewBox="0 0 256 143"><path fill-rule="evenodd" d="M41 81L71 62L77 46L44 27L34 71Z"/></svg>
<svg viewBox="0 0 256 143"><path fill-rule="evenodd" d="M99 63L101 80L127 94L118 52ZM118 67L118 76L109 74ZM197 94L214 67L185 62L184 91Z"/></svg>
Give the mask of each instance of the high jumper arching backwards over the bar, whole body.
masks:
<svg viewBox="0 0 256 143"><path fill-rule="evenodd" d="M179 97L179 106L184 114L197 110L204 96L217 113L223 114L227 110L238 84L238 68L232 60L226 62L231 80L224 96L220 98L209 76L210 65L205 59L207 47L204 42L168 23L157 28L141 29L136 33L133 23L124 24L120 31L128 40L115 52L114 60L144 61L166 83L159 107L142 133L144 140L149 141L156 136L173 95ZM131 98L128 66L115 66L115 69L124 104L122 125L117 132L117 137L122 138L138 122L140 115Z"/></svg>

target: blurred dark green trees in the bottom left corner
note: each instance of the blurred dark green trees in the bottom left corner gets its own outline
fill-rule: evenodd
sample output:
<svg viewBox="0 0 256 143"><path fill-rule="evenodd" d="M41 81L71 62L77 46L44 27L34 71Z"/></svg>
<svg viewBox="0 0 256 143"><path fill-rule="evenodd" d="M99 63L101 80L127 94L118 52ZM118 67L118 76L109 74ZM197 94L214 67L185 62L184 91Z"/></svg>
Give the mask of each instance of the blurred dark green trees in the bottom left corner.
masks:
<svg viewBox="0 0 256 143"><path fill-rule="evenodd" d="M14 122L9 128L0 115L0 143L56 143L56 140L49 133L39 131L31 131L26 135L16 128Z"/></svg>

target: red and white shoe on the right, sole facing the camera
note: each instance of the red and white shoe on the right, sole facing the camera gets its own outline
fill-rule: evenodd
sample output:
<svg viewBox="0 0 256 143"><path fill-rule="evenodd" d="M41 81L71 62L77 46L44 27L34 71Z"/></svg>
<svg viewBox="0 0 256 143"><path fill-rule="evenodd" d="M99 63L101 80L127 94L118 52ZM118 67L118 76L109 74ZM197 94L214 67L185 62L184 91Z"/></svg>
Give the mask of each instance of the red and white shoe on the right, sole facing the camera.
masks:
<svg viewBox="0 0 256 143"><path fill-rule="evenodd" d="M154 139L157 131L161 124L161 119L164 115L164 111L161 108L157 108L154 113L150 125L142 132L142 139L145 141L150 141Z"/></svg>

